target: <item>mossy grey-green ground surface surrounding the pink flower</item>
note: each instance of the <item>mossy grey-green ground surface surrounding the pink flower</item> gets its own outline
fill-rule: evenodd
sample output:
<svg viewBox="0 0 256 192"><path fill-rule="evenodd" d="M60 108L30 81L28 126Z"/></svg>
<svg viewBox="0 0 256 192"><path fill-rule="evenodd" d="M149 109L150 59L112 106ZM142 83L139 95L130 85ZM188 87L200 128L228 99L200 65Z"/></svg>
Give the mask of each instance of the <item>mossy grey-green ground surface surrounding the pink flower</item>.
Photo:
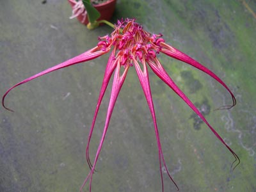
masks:
<svg viewBox="0 0 256 192"><path fill-rule="evenodd" d="M166 43L214 71L237 98L185 63L159 55L164 68L241 158L149 70L166 164L180 191L255 191L255 1L118 0L113 22L134 18ZM111 33L88 31L70 20L67 1L0 1L0 94L45 68L76 56ZM0 109L0 191L79 191L90 171L87 135L108 55L15 88ZM111 80L112 81L112 80ZM102 100L91 144L93 159L104 126L111 86ZM161 191L156 137L134 68L116 102L92 191ZM163 170L164 172L164 170ZM164 173L164 191L175 191ZM84 188L88 191L88 186Z"/></svg>

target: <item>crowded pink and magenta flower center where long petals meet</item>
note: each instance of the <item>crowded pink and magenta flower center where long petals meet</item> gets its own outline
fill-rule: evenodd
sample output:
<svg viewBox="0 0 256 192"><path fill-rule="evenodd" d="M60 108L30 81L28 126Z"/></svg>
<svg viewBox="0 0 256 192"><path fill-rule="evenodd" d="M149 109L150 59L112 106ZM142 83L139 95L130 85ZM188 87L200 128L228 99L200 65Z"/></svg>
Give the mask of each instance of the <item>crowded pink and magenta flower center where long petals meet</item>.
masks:
<svg viewBox="0 0 256 192"><path fill-rule="evenodd" d="M134 19L127 19L118 21L111 37L100 37L98 46L105 51L107 47L113 45L118 51L116 58L119 56L121 65L131 65L133 57L138 61L156 58L161 49L160 43L164 42L161 36L151 35L140 24L134 22Z"/></svg>

